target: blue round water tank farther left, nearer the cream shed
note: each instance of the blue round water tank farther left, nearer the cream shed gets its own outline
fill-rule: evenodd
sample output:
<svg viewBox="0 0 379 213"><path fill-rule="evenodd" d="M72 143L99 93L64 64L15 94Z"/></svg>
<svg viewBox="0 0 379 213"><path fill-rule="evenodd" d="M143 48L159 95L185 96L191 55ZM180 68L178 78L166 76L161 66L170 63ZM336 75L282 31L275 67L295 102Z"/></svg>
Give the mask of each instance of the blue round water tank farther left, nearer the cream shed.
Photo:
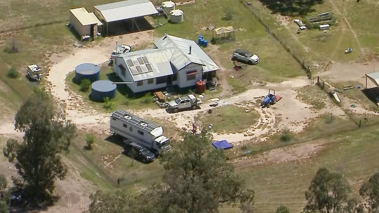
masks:
<svg viewBox="0 0 379 213"><path fill-rule="evenodd" d="M88 78L91 82L100 79L100 66L91 63L79 64L75 67L75 81Z"/></svg>

